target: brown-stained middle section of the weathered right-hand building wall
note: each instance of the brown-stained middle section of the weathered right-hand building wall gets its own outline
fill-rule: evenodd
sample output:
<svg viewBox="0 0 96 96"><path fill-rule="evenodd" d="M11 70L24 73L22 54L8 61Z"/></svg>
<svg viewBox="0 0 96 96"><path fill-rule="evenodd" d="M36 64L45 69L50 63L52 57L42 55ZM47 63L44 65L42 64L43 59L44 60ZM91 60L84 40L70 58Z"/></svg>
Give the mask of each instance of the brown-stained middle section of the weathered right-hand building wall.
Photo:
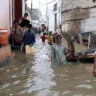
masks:
<svg viewBox="0 0 96 96"><path fill-rule="evenodd" d="M75 8L62 12L62 30L70 33L81 31L81 20L89 18L88 9Z"/></svg>

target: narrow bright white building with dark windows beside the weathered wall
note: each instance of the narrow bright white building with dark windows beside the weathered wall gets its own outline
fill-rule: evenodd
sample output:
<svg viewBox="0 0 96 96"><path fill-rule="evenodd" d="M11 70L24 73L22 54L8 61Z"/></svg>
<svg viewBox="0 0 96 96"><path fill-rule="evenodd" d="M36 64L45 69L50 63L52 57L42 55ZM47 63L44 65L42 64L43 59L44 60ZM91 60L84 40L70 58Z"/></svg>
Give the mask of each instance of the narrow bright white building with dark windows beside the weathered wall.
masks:
<svg viewBox="0 0 96 96"><path fill-rule="evenodd" d="M60 31L59 26L61 25L61 0L47 0L46 6L46 25L49 31L53 33Z"/></svg>

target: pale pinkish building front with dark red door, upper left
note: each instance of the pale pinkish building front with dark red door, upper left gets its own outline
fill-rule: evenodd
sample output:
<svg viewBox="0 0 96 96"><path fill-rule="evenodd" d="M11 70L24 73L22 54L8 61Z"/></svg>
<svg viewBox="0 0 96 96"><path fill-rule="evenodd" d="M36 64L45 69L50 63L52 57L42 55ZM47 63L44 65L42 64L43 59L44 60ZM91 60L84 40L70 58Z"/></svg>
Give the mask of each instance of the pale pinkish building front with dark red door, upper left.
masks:
<svg viewBox="0 0 96 96"><path fill-rule="evenodd" d="M14 20L19 20L25 13L26 0L0 0L0 28L10 32Z"/></svg>

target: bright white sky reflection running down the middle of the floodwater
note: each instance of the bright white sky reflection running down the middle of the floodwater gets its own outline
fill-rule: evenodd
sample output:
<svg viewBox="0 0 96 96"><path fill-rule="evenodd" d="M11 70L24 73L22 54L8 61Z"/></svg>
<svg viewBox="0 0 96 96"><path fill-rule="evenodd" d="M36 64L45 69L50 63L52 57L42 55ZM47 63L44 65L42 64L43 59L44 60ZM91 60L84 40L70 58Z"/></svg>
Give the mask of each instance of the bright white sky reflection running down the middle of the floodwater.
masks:
<svg viewBox="0 0 96 96"><path fill-rule="evenodd" d="M48 56L49 53L49 46L42 45L40 41L37 41L37 53L35 55L35 62L34 66L32 67L30 73L34 73L29 76L25 87L29 87L27 92L37 92L37 91L44 91L49 90L52 86L55 86L56 83L52 80L54 77L53 69L51 68L50 58ZM39 93L39 96L42 94ZM46 93L47 94L47 93Z"/></svg>

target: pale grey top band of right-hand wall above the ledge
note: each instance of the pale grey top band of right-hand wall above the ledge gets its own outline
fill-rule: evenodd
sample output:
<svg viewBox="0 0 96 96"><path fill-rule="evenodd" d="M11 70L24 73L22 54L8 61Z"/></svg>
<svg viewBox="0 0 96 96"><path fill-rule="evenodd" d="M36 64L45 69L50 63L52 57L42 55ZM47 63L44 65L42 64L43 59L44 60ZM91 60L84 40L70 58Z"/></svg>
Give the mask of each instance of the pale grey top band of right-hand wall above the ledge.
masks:
<svg viewBox="0 0 96 96"><path fill-rule="evenodd" d="M62 11L73 8L88 8L96 6L93 0L62 0Z"/></svg>

